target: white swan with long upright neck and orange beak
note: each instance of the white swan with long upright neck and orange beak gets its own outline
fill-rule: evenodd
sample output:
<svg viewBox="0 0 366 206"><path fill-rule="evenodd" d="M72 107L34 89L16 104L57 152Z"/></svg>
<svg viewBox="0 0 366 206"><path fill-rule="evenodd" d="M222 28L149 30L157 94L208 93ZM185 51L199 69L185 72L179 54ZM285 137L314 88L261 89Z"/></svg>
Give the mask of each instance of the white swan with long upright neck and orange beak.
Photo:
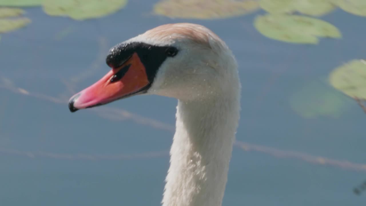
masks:
<svg viewBox="0 0 366 206"><path fill-rule="evenodd" d="M71 112L138 94L178 99L163 206L221 206L240 112L236 59L211 30L166 24L109 50L112 69L72 96ZM147 104L148 105L148 104Z"/></svg>

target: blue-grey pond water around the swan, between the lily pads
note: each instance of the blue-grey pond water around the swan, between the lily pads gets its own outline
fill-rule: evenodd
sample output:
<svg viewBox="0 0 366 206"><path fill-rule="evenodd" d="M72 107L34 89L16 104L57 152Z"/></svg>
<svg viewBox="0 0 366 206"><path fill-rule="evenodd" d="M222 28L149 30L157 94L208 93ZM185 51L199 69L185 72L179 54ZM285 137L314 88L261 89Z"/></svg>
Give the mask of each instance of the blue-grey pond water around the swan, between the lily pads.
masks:
<svg viewBox="0 0 366 206"><path fill-rule="evenodd" d="M52 102L40 94L66 101L107 73L104 58L110 47L165 23L205 25L234 52L243 87L239 141L366 163L366 115L354 101L347 100L349 108L340 118L304 119L289 104L291 95L308 82L326 77L348 60L365 58L364 18L337 10L324 19L342 31L341 40L292 45L261 36L252 26L257 13L215 21L179 20L151 15L152 5L130 1L116 14L83 22L29 8L31 25L1 35L0 77L31 94L0 89L2 206L160 204L175 99L135 96L105 110L71 114L67 102ZM60 36L65 30L70 33ZM139 117L106 113L107 108ZM366 179L365 170L239 147L230 166L224 206L344 206L366 201L365 194L352 192Z"/></svg>

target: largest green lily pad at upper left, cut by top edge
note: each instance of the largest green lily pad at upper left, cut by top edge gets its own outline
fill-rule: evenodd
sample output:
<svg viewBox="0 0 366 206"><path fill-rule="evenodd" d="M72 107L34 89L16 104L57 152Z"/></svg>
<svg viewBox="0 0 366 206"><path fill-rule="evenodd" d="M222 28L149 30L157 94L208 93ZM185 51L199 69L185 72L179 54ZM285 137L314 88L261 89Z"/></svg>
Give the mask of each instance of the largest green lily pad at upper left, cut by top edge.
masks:
<svg viewBox="0 0 366 206"><path fill-rule="evenodd" d="M68 16L75 20L100 18L119 11L127 0L44 0L43 10L51 16Z"/></svg>

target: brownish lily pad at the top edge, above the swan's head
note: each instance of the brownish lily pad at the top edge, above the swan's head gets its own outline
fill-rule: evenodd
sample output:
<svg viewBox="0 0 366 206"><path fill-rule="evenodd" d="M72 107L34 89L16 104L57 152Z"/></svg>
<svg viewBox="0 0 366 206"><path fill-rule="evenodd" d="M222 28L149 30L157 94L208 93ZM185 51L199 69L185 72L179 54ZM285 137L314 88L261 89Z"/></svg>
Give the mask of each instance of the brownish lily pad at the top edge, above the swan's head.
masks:
<svg viewBox="0 0 366 206"><path fill-rule="evenodd" d="M258 9L258 0L161 0L154 5L155 14L183 19L230 18Z"/></svg>

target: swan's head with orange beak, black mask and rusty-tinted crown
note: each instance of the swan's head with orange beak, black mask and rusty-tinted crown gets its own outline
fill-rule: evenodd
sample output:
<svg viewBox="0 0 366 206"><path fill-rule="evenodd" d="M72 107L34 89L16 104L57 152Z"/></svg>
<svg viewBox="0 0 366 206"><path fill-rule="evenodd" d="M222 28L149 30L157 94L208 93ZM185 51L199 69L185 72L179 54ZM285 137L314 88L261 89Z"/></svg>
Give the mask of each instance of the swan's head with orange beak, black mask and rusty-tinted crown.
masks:
<svg viewBox="0 0 366 206"><path fill-rule="evenodd" d="M112 69L69 100L74 112L138 94L180 100L212 98L239 90L236 61L211 30L191 23L167 24L115 45Z"/></svg>

